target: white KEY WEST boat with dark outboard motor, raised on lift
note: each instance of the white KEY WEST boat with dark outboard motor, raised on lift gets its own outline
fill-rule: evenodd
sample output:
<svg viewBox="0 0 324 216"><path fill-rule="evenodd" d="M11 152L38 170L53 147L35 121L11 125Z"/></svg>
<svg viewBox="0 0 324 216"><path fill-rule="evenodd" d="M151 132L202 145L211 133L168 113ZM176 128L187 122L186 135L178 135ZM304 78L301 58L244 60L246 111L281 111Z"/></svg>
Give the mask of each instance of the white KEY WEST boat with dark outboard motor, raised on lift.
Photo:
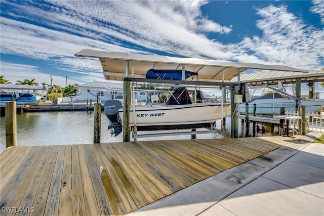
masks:
<svg viewBox="0 0 324 216"><path fill-rule="evenodd" d="M185 92L183 92L185 90ZM181 93L182 92L182 93ZM177 95L177 93L181 93ZM178 99L172 102L172 99ZM186 98L182 100L183 98ZM170 100L171 99L171 100ZM228 104L196 103L192 104L185 88L179 88L167 101L168 105L138 105L130 108L130 126L134 124L138 131L159 129L185 129L210 127L217 120L231 113ZM190 101L189 101L190 100ZM108 100L104 104L105 115L111 121L108 129L114 129L112 134L117 136L122 131L123 106L118 100Z"/></svg>

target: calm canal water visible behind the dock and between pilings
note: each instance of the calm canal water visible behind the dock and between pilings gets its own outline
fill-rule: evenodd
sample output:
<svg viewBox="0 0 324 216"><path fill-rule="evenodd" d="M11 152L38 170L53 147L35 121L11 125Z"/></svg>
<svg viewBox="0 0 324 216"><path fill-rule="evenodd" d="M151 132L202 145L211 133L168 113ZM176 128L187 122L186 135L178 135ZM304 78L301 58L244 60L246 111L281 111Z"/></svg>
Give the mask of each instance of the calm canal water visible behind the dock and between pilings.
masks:
<svg viewBox="0 0 324 216"><path fill-rule="evenodd" d="M239 121L240 122L240 121ZM65 111L65 112L26 112L17 114L17 145L67 145L67 144L91 144L93 143L94 114L86 111ZM123 134L111 137L107 127L108 118L101 116L101 143L122 142ZM230 119L227 119L230 124ZM260 128L262 126L259 123ZM220 121L217 128L220 128ZM266 133L263 136L271 136L269 124L264 124ZM250 134L252 133L252 123L250 123ZM204 129L197 129L204 130ZM205 129L206 130L206 129ZM180 131L180 130L179 130ZM188 131L188 130L182 130ZM190 131L190 130L189 130ZM244 124L239 128L240 136L244 136ZM139 132L139 134L156 132ZM6 122L5 116L0 117L0 152L6 149ZM261 132L258 136L262 136ZM223 136L219 134L197 135L197 139L217 139ZM138 138L144 140L173 140L191 139L190 135L172 137L150 137Z"/></svg>

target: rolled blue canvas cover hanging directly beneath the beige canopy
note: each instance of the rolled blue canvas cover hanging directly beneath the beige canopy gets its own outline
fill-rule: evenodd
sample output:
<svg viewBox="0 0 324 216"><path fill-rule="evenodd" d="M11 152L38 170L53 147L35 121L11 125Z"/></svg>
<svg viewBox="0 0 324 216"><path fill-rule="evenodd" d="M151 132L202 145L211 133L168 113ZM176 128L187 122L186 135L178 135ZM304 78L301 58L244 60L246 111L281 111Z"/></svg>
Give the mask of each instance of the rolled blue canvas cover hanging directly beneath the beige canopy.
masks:
<svg viewBox="0 0 324 216"><path fill-rule="evenodd" d="M153 78L153 79L173 79L173 80L181 80L181 73L182 70L155 70L149 69L146 73L146 78ZM184 78L188 78L193 75L198 75L196 72L191 72L185 70Z"/></svg>

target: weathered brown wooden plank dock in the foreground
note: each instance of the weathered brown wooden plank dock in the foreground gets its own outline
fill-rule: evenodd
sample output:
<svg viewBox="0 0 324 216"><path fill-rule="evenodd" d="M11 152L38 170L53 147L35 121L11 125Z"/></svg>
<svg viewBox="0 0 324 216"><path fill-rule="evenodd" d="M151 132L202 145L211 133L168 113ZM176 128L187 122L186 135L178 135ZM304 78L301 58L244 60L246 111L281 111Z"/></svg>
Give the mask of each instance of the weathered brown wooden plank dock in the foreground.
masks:
<svg viewBox="0 0 324 216"><path fill-rule="evenodd" d="M25 215L24 209L31 215L122 215L289 140L16 146L1 154L0 207L4 215Z"/></svg>

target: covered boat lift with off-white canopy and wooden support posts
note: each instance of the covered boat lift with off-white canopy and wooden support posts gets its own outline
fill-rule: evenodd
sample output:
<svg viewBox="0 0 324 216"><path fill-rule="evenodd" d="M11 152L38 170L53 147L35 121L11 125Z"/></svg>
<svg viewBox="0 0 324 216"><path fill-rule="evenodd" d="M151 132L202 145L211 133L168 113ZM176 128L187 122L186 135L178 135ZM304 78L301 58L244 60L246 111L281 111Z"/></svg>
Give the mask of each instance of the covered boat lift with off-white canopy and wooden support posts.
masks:
<svg viewBox="0 0 324 216"><path fill-rule="evenodd" d="M231 86L231 112L235 113L234 95L241 91L240 73L248 69L308 72L293 67L282 65L264 65L257 63L240 63L231 61L207 60L197 58L179 58L159 55L142 55L134 53L118 53L85 49L75 53L76 57L98 58L102 65L105 79L124 81L124 121L123 141L130 141L130 105L131 82L165 82L161 79L146 78L146 72L150 69L181 69L180 80L168 80L174 84L200 84L213 86ZM132 76L130 73L132 68ZM185 79L185 69L198 73L199 80ZM230 80L237 77L237 81ZM237 117L237 116L236 116ZM238 137L238 118L231 125L231 137Z"/></svg>

